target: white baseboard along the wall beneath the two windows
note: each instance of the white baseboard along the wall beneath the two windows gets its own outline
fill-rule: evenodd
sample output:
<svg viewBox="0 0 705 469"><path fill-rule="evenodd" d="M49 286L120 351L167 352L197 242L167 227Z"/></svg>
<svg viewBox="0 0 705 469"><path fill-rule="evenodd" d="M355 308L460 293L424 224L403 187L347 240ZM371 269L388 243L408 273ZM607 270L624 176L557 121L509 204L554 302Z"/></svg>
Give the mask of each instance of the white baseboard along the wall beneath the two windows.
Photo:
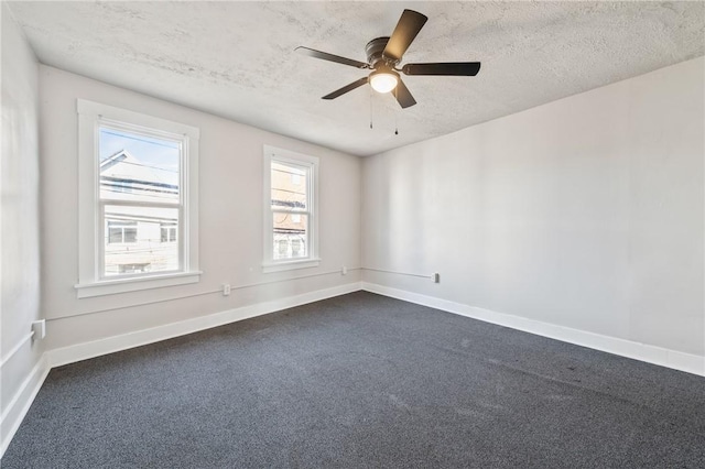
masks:
<svg viewBox="0 0 705 469"><path fill-rule="evenodd" d="M288 296L285 298L279 298L271 302L258 303L254 305L228 309L225 312L182 320L178 323L165 324L163 326L158 326L150 329L137 330L130 334L123 334L120 336L108 337L90 342L76 343L74 346L53 349L48 350L46 352L46 356L50 367L61 367L63 364L74 363L80 360L100 357L120 350L131 349L133 347L159 342L161 340L171 339L173 337L184 336L186 334L197 332L204 329L210 329L213 327L223 326L226 324L265 315L269 313L274 313L294 306L318 302L321 299L330 298L333 296L357 292L359 290L361 290L360 282L354 282L345 285L334 286L330 288L303 293L301 295Z"/></svg>

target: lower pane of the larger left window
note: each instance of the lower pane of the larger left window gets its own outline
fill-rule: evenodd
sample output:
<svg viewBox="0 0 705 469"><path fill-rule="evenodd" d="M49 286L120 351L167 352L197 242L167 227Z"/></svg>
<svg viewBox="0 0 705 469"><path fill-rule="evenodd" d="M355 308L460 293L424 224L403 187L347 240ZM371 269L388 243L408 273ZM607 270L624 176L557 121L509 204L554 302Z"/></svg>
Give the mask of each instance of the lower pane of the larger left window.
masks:
<svg viewBox="0 0 705 469"><path fill-rule="evenodd" d="M104 275L178 270L178 209L107 205ZM162 227L167 226L167 241Z"/></svg>

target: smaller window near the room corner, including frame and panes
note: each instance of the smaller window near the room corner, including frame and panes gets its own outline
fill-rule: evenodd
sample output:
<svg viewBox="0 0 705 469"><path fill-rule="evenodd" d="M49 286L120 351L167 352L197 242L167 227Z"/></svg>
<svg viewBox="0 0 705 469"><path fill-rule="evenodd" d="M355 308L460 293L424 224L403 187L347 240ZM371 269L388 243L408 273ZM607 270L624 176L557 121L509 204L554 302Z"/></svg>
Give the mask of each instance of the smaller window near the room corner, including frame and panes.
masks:
<svg viewBox="0 0 705 469"><path fill-rule="evenodd" d="M264 146L264 272L318 265L318 159Z"/></svg>

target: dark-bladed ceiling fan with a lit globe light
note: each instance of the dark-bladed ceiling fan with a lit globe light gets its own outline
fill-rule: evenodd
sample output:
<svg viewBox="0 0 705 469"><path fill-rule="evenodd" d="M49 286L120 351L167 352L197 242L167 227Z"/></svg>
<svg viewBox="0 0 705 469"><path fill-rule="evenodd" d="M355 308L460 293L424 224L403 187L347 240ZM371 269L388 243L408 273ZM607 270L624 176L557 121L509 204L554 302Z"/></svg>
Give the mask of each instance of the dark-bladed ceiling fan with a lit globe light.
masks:
<svg viewBox="0 0 705 469"><path fill-rule="evenodd" d="M405 64L403 67L398 68L404 52L406 52L409 45L411 45L427 20L429 18L416 11L404 10L390 37L377 37L367 43L367 46L365 46L367 63L303 46L296 47L295 51L311 57L372 70L369 76L336 89L324 96L323 99L335 99L369 83L372 89L378 92L394 90L394 97L399 105L402 108L408 108L415 105L416 100L401 80L399 72L404 75L475 76L480 70L479 62Z"/></svg>

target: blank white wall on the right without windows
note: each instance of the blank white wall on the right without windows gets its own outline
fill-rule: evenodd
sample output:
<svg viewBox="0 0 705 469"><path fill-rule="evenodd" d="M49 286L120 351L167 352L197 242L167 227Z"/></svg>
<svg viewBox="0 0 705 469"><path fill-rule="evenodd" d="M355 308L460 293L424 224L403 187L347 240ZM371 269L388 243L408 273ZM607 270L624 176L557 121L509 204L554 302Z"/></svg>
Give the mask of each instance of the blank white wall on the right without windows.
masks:
<svg viewBox="0 0 705 469"><path fill-rule="evenodd" d="M705 355L703 69L365 160L364 281Z"/></svg>

